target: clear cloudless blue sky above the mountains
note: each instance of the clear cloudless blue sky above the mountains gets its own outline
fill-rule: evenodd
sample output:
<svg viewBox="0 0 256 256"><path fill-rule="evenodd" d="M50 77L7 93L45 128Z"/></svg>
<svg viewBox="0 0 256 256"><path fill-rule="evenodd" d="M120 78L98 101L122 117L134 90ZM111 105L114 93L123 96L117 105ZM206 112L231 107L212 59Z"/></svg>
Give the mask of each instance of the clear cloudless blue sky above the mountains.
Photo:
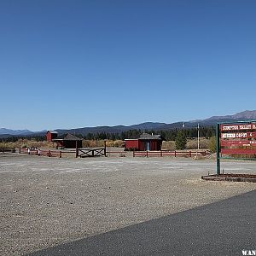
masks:
<svg viewBox="0 0 256 256"><path fill-rule="evenodd" d="M254 0L0 1L0 127L254 110Z"/></svg>

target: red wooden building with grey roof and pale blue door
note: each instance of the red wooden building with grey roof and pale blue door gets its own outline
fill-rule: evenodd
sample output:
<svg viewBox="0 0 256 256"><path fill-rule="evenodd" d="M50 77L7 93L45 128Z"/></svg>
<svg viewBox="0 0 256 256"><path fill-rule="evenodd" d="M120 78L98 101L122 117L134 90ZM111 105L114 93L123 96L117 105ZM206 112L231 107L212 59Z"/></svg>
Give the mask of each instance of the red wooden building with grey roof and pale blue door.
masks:
<svg viewBox="0 0 256 256"><path fill-rule="evenodd" d="M160 135L143 133L137 139L125 139L125 148L138 151L161 150L162 141L163 139Z"/></svg>

